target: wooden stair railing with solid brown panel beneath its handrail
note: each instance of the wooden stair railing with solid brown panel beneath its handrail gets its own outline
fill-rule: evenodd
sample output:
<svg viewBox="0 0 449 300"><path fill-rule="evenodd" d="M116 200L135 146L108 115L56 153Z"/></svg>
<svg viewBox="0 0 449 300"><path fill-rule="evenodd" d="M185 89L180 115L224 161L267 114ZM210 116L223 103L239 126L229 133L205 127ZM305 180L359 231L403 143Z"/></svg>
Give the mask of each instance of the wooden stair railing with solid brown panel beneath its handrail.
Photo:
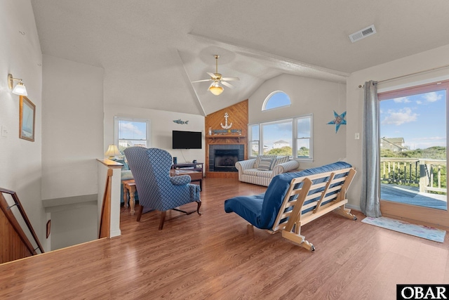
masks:
<svg viewBox="0 0 449 300"><path fill-rule="evenodd" d="M14 200L13 205L8 206L4 193L11 195ZM14 261L15 259L22 259L27 256L38 254L11 211L11 208L14 206L18 208L22 219L27 225L29 233L32 234L34 242L37 244L36 249L39 249L40 252L43 253L43 247L29 222L18 195L13 190L0 188L0 209L3 212L3 214L0 214L0 263L6 263L7 261Z"/></svg>

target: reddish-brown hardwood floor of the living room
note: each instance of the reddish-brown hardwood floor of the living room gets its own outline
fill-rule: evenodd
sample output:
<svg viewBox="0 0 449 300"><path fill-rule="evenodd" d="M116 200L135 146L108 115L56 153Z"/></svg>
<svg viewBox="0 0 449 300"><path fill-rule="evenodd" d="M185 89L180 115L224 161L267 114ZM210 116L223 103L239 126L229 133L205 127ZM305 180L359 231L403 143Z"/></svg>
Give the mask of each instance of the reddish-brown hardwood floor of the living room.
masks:
<svg viewBox="0 0 449 300"><path fill-rule="evenodd" d="M206 178L202 216L161 231L158 213L138 223L123 209L121 237L0 265L0 299L396 299L397 283L449 282L447 236L431 242L330 213L302 227L316 247L308 252L225 213L227 198L264 190Z"/></svg>

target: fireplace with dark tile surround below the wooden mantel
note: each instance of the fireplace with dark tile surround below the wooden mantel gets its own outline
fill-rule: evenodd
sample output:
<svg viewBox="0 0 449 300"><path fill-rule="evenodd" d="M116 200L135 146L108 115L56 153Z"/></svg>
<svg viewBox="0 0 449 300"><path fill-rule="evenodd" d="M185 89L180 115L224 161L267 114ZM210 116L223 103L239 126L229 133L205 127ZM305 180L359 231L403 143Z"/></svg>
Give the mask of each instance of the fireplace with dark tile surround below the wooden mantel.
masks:
<svg viewBox="0 0 449 300"><path fill-rule="evenodd" d="M236 162L245 157L245 145L209 145L209 171L236 172Z"/></svg>

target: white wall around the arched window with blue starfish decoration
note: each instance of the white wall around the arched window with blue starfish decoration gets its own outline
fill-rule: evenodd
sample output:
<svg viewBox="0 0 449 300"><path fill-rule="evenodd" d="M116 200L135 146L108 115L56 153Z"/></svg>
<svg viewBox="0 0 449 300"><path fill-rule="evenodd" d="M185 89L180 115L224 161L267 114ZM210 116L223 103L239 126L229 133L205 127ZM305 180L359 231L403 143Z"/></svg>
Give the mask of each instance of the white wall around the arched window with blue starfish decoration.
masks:
<svg viewBox="0 0 449 300"><path fill-rule="evenodd" d="M262 104L273 91L290 97L290 107L262 112ZM335 119L333 111L346 110L346 86L335 82L282 74L265 81L249 98L250 124L313 114L314 162L300 162L301 169L318 167L346 157L346 126L328 122Z"/></svg>

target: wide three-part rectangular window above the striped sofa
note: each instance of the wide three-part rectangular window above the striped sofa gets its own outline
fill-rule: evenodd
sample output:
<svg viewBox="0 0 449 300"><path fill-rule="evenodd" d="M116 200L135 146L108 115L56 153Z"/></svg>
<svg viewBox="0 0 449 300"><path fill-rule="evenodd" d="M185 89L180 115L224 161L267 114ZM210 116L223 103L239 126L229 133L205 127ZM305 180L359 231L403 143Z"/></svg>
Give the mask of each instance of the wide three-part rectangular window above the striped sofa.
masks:
<svg viewBox="0 0 449 300"><path fill-rule="evenodd" d="M312 115L250 124L248 133L250 157L265 154L313 159Z"/></svg>

